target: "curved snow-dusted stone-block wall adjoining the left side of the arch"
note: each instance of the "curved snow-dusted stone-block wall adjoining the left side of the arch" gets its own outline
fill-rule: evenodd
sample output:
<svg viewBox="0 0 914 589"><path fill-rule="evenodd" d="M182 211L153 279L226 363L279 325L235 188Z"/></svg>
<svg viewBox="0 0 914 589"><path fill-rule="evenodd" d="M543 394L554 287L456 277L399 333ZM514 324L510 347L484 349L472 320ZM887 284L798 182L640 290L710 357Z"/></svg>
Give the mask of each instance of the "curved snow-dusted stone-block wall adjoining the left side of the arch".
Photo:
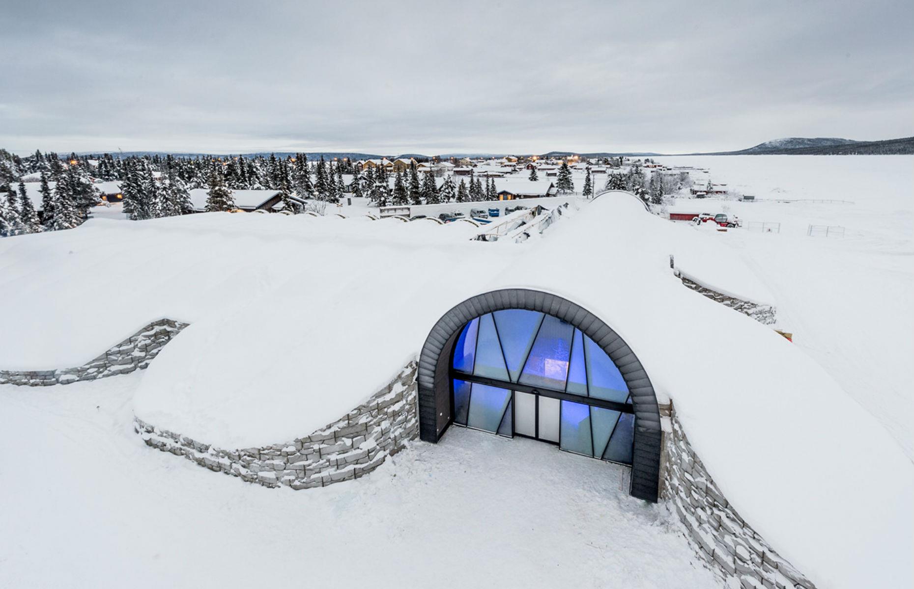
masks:
<svg viewBox="0 0 914 589"><path fill-rule="evenodd" d="M151 447L183 456L201 467L265 487L326 487L358 479L381 466L419 433L416 363L366 403L308 436L264 447L224 449L134 419Z"/></svg>

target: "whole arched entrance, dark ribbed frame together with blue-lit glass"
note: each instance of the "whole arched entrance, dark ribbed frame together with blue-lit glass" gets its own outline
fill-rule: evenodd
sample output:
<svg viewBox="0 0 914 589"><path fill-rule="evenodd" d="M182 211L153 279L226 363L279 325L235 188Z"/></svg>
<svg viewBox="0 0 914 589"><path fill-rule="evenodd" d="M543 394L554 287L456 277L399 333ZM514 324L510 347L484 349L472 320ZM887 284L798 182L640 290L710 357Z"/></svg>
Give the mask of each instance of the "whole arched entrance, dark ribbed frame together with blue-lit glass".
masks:
<svg viewBox="0 0 914 589"><path fill-rule="evenodd" d="M622 338L579 305L528 289L465 300L432 328L418 380L421 439L437 442L452 423L535 437L630 464L632 496L657 500L654 387Z"/></svg>

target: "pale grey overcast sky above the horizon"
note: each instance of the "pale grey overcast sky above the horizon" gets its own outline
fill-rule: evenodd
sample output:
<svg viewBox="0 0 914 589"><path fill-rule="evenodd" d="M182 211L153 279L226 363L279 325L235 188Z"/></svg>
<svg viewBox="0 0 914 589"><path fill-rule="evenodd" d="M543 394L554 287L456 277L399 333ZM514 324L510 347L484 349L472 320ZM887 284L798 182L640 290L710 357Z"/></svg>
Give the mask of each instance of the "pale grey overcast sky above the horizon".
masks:
<svg viewBox="0 0 914 589"><path fill-rule="evenodd" d="M914 135L914 2L0 0L0 147L543 153Z"/></svg>

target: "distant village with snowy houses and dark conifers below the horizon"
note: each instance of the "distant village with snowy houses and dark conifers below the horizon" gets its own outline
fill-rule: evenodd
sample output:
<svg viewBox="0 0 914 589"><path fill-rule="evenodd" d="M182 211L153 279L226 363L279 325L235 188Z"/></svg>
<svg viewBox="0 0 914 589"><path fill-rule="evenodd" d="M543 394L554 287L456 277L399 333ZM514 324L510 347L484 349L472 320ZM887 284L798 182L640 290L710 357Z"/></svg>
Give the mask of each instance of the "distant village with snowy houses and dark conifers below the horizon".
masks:
<svg viewBox="0 0 914 589"><path fill-rule="evenodd" d="M409 216L410 206L591 198L605 190L631 191L649 205L728 192L707 170L621 156L23 158L0 150L0 236L78 226L98 206L137 220L215 211L324 215L354 204L377 216Z"/></svg>

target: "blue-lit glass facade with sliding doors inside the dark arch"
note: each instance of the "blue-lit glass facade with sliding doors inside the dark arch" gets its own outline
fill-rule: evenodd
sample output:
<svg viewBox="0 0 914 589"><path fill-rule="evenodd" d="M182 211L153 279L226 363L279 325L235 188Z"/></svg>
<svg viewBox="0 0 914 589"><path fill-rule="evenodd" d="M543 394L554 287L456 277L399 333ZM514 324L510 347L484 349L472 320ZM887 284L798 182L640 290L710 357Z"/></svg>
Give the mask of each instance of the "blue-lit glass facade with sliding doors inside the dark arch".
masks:
<svg viewBox="0 0 914 589"><path fill-rule="evenodd" d="M634 415L622 373L556 317L509 309L467 323L454 345L452 391L456 424L632 464Z"/></svg>

